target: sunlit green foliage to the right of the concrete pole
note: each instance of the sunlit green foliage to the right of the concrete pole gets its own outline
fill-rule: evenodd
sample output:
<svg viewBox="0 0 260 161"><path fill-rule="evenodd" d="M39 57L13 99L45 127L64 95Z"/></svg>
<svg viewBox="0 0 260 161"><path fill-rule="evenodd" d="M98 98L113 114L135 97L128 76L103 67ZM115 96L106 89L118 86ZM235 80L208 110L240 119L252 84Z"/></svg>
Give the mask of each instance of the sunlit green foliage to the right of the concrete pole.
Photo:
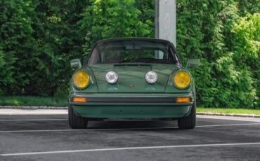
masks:
<svg viewBox="0 0 260 161"><path fill-rule="evenodd" d="M199 104L259 107L260 26L259 13L252 15L259 11L254 2L178 2L178 52L202 59L193 72Z"/></svg>

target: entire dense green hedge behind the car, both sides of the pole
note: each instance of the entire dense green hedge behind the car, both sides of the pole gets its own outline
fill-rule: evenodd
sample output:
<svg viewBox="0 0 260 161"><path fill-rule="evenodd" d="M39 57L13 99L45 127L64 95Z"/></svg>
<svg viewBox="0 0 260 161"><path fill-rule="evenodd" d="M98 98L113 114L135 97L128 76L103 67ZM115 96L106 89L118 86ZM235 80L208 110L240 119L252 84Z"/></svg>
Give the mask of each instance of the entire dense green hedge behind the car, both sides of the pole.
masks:
<svg viewBox="0 0 260 161"><path fill-rule="evenodd" d="M177 1L177 50L200 106L259 108L259 0ZM154 35L152 0L0 0L0 94L64 96L70 59L102 38Z"/></svg>

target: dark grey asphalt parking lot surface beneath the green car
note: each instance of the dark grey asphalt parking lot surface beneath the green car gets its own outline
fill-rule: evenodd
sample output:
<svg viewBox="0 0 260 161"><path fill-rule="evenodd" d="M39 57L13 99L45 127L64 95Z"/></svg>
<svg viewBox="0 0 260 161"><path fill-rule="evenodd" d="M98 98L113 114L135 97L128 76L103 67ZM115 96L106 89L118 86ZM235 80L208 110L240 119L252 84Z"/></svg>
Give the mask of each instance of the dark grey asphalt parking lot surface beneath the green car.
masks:
<svg viewBox="0 0 260 161"><path fill-rule="evenodd" d="M198 116L176 121L90 121L67 115L0 115L0 160L260 160L260 119Z"/></svg>

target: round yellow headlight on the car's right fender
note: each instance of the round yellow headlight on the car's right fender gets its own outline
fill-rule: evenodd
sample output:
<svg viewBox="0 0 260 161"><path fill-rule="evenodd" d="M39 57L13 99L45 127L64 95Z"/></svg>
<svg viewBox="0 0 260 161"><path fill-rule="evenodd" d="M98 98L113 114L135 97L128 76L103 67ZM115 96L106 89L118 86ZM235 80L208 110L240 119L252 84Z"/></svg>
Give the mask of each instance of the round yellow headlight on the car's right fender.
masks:
<svg viewBox="0 0 260 161"><path fill-rule="evenodd" d="M186 71L177 71L174 75L174 85L180 89L188 87L190 80L190 74Z"/></svg>

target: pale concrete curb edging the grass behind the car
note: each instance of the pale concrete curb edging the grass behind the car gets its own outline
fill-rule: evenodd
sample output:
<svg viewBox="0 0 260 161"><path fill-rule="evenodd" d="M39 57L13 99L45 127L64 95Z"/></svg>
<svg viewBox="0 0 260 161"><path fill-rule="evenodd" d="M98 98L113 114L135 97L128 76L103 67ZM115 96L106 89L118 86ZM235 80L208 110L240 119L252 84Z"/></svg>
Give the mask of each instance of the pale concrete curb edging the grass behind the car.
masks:
<svg viewBox="0 0 260 161"><path fill-rule="evenodd" d="M67 109L67 106L0 106L0 109L24 109L24 110L37 110L37 109ZM235 114L235 113L203 113L197 112L197 115L202 116L233 116L233 117L243 117L243 118L260 118L259 115L249 115L249 114Z"/></svg>

